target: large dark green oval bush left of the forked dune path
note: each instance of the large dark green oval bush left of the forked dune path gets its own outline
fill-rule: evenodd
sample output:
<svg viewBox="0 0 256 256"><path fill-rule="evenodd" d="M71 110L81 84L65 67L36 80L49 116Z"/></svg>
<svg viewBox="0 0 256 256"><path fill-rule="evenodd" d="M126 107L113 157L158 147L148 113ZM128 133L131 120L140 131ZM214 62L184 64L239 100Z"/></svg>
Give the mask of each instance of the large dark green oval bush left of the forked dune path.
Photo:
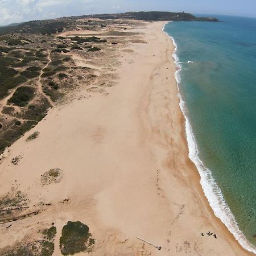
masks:
<svg viewBox="0 0 256 256"><path fill-rule="evenodd" d="M26 106L28 101L34 96L35 90L29 86L20 86L17 88L13 96L9 99L9 103L13 103L16 106Z"/></svg>

